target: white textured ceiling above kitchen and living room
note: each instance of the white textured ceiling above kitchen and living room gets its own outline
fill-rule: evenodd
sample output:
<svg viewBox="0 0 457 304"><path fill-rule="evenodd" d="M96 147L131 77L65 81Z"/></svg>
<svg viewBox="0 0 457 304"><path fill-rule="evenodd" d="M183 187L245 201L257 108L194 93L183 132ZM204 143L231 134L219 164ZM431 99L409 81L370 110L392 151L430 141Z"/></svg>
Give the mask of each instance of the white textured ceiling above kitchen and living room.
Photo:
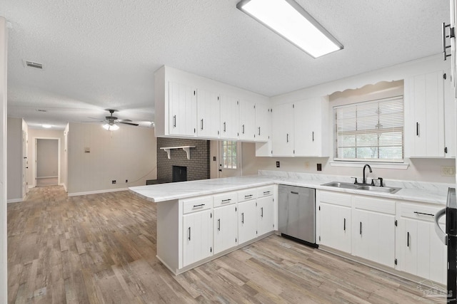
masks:
<svg viewBox="0 0 457 304"><path fill-rule="evenodd" d="M297 0L344 46L313 59L237 2L2 0L11 23L8 115L63 127L116 108L121 119L152 121L154 71L164 64L279 95L440 53L449 21L444 0Z"/></svg>

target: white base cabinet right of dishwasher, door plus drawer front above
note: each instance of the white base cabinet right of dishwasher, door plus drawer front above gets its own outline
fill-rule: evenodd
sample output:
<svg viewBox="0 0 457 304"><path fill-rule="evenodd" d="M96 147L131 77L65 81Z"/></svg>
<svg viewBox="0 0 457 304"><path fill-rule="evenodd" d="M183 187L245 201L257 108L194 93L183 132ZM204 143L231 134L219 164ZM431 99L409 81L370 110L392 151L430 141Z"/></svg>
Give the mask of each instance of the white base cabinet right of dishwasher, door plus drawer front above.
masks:
<svg viewBox="0 0 457 304"><path fill-rule="evenodd" d="M321 192L318 216L320 243L351 253L351 195Z"/></svg>

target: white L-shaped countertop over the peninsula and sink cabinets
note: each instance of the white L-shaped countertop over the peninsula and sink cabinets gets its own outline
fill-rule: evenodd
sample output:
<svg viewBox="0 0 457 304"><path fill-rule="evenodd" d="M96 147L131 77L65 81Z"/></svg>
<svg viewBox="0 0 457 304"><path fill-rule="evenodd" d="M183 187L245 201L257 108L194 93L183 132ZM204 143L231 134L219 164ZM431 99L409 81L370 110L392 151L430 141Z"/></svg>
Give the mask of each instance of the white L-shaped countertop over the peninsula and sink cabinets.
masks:
<svg viewBox="0 0 457 304"><path fill-rule="evenodd" d="M203 196L251 187L266 186L269 184L288 184L291 186L378 196L388 199L420 201L424 203L442 205L446 204L447 189L444 191L443 187L436 187L433 189L402 188L395 194L389 194L383 192L368 192L366 190L341 189L336 187L321 186L321 184L325 184L326 182L331 181L323 181L321 179L256 175L248 177L226 177L221 179L201 179L191 182L154 184L147 186L130 187L129 190L143 199L157 203L161 201L171 201L174 199L185 199L194 196ZM343 181L341 180L341 182Z"/></svg>

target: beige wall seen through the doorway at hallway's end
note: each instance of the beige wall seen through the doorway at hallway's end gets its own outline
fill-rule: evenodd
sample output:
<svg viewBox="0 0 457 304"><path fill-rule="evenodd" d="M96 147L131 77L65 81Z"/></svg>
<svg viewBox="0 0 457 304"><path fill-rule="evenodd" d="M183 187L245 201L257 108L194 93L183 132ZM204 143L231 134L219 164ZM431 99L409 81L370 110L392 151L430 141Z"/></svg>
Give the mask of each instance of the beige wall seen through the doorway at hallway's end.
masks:
<svg viewBox="0 0 457 304"><path fill-rule="evenodd" d="M57 177L59 172L59 140L36 142L36 178Z"/></svg>

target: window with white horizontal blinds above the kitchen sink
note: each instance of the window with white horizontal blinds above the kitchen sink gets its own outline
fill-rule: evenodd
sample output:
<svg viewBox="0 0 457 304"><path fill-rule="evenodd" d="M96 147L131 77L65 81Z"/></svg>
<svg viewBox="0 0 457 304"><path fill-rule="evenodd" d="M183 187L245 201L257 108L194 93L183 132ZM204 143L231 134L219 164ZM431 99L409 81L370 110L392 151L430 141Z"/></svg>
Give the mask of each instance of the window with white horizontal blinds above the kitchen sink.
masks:
<svg viewBox="0 0 457 304"><path fill-rule="evenodd" d="M403 96L333 107L334 160L403 162Z"/></svg>

